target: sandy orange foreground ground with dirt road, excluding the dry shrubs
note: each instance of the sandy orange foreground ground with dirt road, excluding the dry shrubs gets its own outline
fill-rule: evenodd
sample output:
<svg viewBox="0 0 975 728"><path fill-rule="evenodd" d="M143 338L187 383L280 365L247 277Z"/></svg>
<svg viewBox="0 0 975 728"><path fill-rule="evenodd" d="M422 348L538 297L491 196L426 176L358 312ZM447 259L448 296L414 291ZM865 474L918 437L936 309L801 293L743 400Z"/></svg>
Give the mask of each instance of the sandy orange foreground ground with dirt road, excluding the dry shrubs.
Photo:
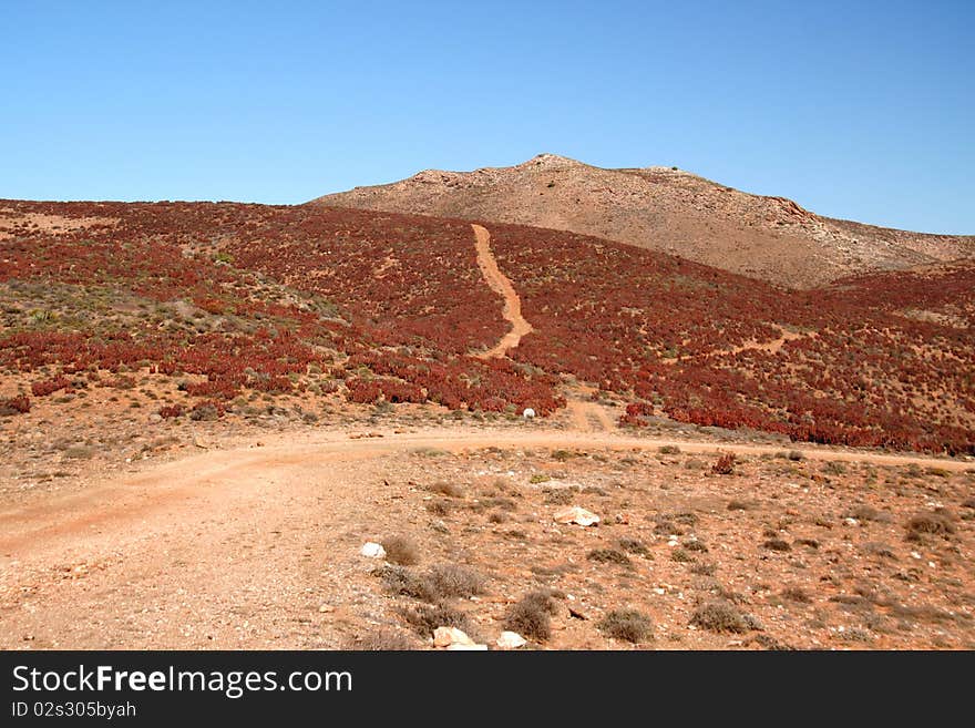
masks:
<svg viewBox="0 0 975 728"><path fill-rule="evenodd" d="M132 463L127 472L79 479L57 492L8 496L0 505L0 646L337 648L357 646L363 639L372 644L368 640L377 630L387 636L407 634L411 645L422 646L423 636L404 626L402 618L402 611L413 602L407 599L404 606L403 597L390 595L372 573L377 562L359 554L366 541L403 533L410 534L423 554L414 568L450 562L491 575L486 593L461 605L474 619L472 629L480 630L485 642L500 633L511 603L542 584L561 589L558 605L564 611L574 603L584 614L583 618L566 616L567 612L554 617L554 635L536 640L542 647L630 646L607 639L594 626L599 614L623 603L650 613L661 625L651 645L659 648L787 642L803 647L895 648L975 644L971 522L956 521L955 533L944 541L944 547L954 550L947 553L940 539L922 547L902 537L904 517L936 507L935 501L954 499L958 503L946 504L958 510L971 493L972 476L966 471L972 463L812 448L803 449L800 463L790 463L781 460L781 449L773 445L731 447L605 431L597 429L598 409L575 404L573 420L589 431L522 423L497 429L458 425L409 432L304 429L263 433L230 449L217 449L214 442L214 449L171 462ZM679 447L680 454L658 454L665 445ZM745 472L729 480L711 475L705 465L717 451L738 453ZM777 453L779 459L773 458ZM851 463L855 474L851 470L839 476L839 489L824 488L819 469L825 464L842 468L835 463ZM769 480L774 478L769 473L778 471L768 468L783 465L791 469L788 478ZM916 474L918 468L937 474L922 475L916 492L911 490L914 485L902 488L902 482L915 481L903 480L897 472L911 469ZM876 476L878 469L890 472L883 476L884 485L863 485L864 479L870 482ZM868 471L873 475L863 474ZM450 507L438 511L431 509L438 496L428 489L441 481L462 484L464 494L454 494ZM584 504L602 512L604 523L595 529L554 525L554 504L548 499L550 486L555 485L588 499ZM772 488L776 493L770 492ZM884 500L890 489L905 502ZM862 527L859 522L856 527L844 525L843 507L859 502L863 493L880 499L887 515L876 523L863 520ZM780 512L761 507L729 512L725 501L732 495L774 503ZM742 604L762 615L767 626L761 632L711 635L689 624L694 584L715 581L715 574L711 571L708 576L702 568L695 575L697 558L687 563L666 558L674 541L684 543L686 536L658 526L660 519L687 514L694 504L701 512L686 517L712 523L714 530L698 523L692 541L707 539L714 554L708 562L715 563L718 576L725 575L721 588L738 585L747 595ZM831 565L831 550L824 546L817 546L810 556L762 551L761 527L782 526L776 521L789 513L794 514L789 516L792 521L812 522L813 515L827 519L829 529L823 533L837 535L845 529L856 534L853 541L849 534L839 537L834 551L844 558L854 546L890 542L894 545L878 548L896 552L892 574L915 562L922 565L922 576L910 576L914 582L885 575L883 584L893 584L891 588L904 594L878 598L874 604L881 606L874 608L883 613L876 619L890 618L894 625L896 615L914 614L904 606L907 599L925 594L924 608L935 609L933 626L912 624L899 630L894 625L891 636L878 622L876 633L855 624L845 627L854 633L837 633L843 625L830 624L819 613L805 615L804 624L813 625L807 629L776 625L781 608L769 606L768 599L758 599L756 594L774 595L789 580L809 582L805 588L814 594L821 591L822 578L840 575L862 592L864 583L878 577L873 573L876 560L868 560L866 566ZM657 519L656 526L653 519ZM735 524L740 525L742 519L756 520L748 529L757 534L746 537L736 532ZM790 527L799 530L784 526ZM889 532L868 537L865 529L873 527ZM588 574L586 550L602 542L608 548L624 532L645 543L649 555L635 566L603 564L595 575ZM792 541L794 535L787 539ZM757 543L746 543L755 537ZM817 540L825 544L822 535ZM650 561L654 553L657 558ZM771 572L769 557L782 560ZM791 562L802 562L801 568L790 566ZM783 576L776 571L779 567L790 574ZM741 586L750 574L763 572L756 577L763 588L752 586L747 592ZM947 584L937 581L948 575ZM874 585L870 593L881 591ZM827 606L832 606L827 599L837 594L846 591L832 588L823 597ZM932 601L938 606L932 606ZM812 608L805 603L800 606ZM776 626L782 628L771 628ZM840 638L831 642L837 634ZM844 640L844 634L862 639ZM756 642L757 636L766 642Z"/></svg>

